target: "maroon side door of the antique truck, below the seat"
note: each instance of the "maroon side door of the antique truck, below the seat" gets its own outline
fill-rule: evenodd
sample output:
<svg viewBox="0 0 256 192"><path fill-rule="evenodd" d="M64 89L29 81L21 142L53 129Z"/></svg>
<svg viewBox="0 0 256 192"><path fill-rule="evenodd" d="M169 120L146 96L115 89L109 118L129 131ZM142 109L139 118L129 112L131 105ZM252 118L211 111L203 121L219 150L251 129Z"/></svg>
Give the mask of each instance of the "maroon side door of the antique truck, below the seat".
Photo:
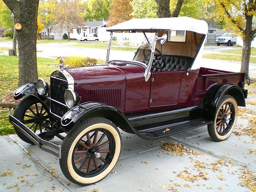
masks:
<svg viewBox="0 0 256 192"><path fill-rule="evenodd" d="M176 105L180 93L181 71L152 72L150 108Z"/></svg>

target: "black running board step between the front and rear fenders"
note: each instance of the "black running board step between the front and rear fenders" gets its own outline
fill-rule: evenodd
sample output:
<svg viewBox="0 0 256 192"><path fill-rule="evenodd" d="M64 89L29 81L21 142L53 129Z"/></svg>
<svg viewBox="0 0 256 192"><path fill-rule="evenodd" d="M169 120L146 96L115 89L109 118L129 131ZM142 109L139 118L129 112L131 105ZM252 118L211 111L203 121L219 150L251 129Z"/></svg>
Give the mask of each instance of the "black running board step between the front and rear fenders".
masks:
<svg viewBox="0 0 256 192"><path fill-rule="evenodd" d="M138 130L138 133L149 139L156 139L156 138L168 136L171 134L175 134L178 132L198 128L204 125L208 125L210 123L212 123L211 120L198 118L198 119L187 120L184 122L178 122L174 124L165 124L165 125L156 124L156 126L154 127Z"/></svg>

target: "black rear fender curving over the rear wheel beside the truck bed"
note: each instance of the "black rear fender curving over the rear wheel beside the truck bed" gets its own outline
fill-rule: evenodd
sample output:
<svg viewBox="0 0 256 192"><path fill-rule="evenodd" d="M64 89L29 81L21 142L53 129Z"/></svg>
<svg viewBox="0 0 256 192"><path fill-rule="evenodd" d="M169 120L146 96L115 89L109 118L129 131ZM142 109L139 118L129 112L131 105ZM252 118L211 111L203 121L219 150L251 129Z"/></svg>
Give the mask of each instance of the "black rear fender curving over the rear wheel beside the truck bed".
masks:
<svg viewBox="0 0 256 192"><path fill-rule="evenodd" d="M218 84L212 86L202 100L202 117L212 119L216 107L225 95L233 96L238 106L246 106L244 93L240 87L232 84Z"/></svg>

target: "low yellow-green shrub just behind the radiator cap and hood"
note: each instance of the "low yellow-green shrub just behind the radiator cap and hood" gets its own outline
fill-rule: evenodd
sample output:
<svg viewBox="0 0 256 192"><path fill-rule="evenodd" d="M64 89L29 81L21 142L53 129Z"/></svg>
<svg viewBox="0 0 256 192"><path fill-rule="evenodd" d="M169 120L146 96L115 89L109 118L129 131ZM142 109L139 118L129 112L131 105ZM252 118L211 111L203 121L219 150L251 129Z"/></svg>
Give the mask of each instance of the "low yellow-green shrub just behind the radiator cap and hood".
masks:
<svg viewBox="0 0 256 192"><path fill-rule="evenodd" d="M67 57L66 64L70 67L92 66L97 64L97 60L89 57L72 56Z"/></svg>

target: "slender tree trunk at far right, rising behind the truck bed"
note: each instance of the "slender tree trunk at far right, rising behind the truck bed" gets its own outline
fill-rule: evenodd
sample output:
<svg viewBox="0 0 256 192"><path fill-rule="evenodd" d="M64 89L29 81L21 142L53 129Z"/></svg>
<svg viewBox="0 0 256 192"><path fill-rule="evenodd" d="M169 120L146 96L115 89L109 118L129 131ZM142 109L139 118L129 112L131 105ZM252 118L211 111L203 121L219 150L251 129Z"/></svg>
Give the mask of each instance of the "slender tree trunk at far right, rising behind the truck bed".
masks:
<svg viewBox="0 0 256 192"><path fill-rule="evenodd" d="M243 42L241 72L249 72L252 38L245 36Z"/></svg>

